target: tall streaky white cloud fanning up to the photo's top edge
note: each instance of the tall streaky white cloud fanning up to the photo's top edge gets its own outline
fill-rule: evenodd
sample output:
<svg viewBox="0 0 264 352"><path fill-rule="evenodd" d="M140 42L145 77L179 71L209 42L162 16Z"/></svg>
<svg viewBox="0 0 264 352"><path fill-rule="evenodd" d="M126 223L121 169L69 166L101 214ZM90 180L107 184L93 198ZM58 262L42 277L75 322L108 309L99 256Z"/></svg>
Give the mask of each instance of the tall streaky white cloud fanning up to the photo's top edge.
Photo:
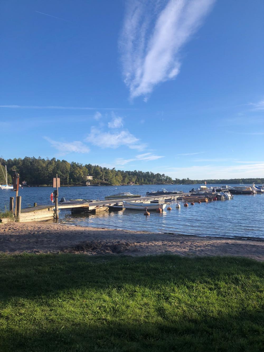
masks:
<svg viewBox="0 0 264 352"><path fill-rule="evenodd" d="M201 25L214 0L131 0L119 40L124 81L130 98L147 96L153 88L175 78L179 53Z"/></svg>

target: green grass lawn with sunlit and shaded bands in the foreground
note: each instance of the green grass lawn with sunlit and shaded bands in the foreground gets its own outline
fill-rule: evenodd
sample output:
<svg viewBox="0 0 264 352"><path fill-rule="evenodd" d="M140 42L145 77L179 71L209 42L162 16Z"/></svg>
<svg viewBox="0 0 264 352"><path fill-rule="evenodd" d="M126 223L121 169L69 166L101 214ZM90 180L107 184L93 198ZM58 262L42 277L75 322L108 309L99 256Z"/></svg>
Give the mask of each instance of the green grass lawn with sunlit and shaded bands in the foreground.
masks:
<svg viewBox="0 0 264 352"><path fill-rule="evenodd" d="M0 256L0 351L263 351L263 263Z"/></svg>

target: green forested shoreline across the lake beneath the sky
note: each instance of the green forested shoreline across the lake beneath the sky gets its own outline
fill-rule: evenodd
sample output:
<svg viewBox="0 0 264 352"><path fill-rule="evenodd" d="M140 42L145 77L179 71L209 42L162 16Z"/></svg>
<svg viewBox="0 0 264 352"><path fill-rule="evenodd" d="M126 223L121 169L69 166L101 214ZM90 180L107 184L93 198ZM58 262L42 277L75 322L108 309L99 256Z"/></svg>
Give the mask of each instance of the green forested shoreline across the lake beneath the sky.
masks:
<svg viewBox="0 0 264 352"><path fill-rule="evenodd" d="M25 157L14 159L0 158L2 170L7 166L7 181L12 183L12 176L15 170L20 175L20 182L26 181L27 184L35 186L51 186L52 179L56 174L60 177L62 186L77 186L85 185L87 176L93 176L91 185L119 185L132 182L135 184L262 184L264 178L235 178L235 179L220 179L220 180L190 180L189 178L172 180L171 177L165 174L154 174L153 172L143 171L123 171L115 168L109 169L99 165L80 164L76 162L67 162L56 158L35 158ZM0 170L0 184L5 183L4 173Z"/></svg>

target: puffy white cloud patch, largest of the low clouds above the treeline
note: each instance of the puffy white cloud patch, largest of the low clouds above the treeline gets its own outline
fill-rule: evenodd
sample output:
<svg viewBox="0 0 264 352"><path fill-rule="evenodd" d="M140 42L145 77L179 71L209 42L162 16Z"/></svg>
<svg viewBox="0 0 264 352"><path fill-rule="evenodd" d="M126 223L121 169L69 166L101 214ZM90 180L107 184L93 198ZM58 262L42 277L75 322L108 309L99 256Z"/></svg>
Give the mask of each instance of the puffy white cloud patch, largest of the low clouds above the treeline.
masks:
<svg viewBox="0 0 264 352"><path fill-rule="evenodd" d="M103 132L94 126L91 128L86 142L90 142L100 148L115 149L125 145L130 149L143 150L146 147L145 143L140 143L140 140L127 130L111 133L109 131Z"/></svg>

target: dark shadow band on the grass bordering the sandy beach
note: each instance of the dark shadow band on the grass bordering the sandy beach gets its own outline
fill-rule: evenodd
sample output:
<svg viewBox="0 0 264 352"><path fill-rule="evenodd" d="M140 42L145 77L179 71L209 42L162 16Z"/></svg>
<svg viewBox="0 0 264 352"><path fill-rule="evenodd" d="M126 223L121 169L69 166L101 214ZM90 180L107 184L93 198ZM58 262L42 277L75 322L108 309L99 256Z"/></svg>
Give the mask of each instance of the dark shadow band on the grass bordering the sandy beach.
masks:
<svg viewBox="0 0 264 352"><path fill-rule="evenodd" d="M122 289L126 284L150 289L168 283L178 287L216 281L241 285L252 276L264 282L264 263L238 257L2 254L0 264L3 300L15 296L56 296L69 289Z"/></svg>

